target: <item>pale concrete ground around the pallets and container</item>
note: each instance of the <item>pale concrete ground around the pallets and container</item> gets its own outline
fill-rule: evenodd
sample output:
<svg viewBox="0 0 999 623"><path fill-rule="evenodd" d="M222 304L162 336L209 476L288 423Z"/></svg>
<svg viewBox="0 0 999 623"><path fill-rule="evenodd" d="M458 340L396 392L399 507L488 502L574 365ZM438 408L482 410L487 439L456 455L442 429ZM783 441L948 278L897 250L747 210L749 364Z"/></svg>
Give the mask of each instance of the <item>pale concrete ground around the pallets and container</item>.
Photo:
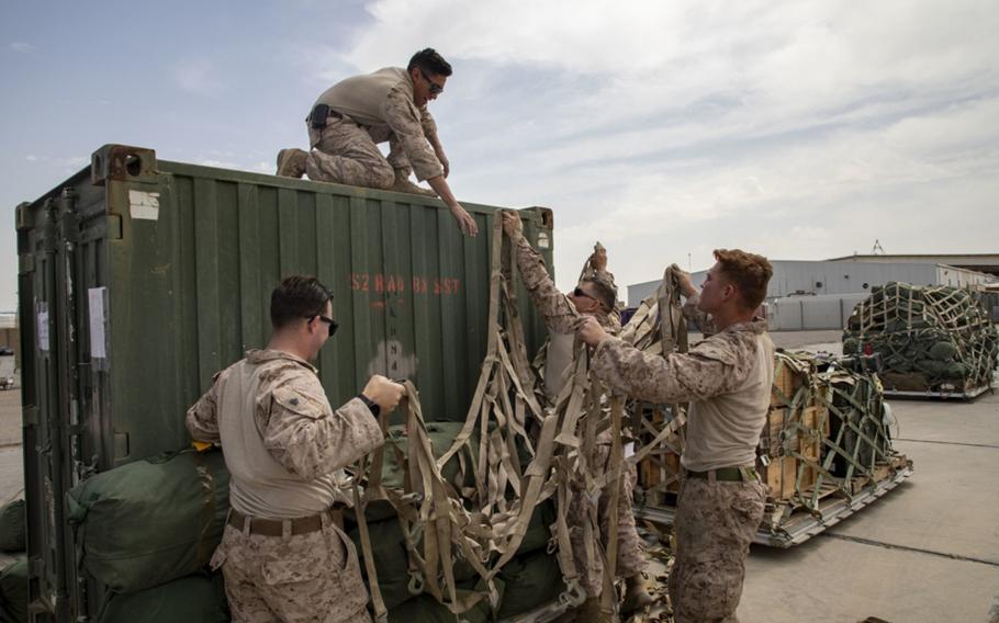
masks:
<svg viewBox="0 0 999 623"><path fill-rule="evenodd" d="M835 352L839 331L774 333ZM999 596L999 396L891 400L896 448L916 473L789 550L753 546L743 623L987 621ZM23 496L20 390L0 392L0 501ZM0 565L9 558L0 555Z"/></svg>

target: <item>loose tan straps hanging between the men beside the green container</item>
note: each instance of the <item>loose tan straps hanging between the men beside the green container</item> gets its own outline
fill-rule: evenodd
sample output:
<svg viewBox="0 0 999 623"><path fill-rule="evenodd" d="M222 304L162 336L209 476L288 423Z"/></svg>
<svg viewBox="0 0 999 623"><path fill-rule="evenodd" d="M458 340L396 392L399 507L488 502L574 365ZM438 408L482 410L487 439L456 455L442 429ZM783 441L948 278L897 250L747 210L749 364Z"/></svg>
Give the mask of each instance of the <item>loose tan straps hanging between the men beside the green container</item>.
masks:
<svg viewBox="0 0 999 623"><path fill-rule="evenodd" d="M418 393L412 383L407 383L407 396L401 405L408 434L403 490L386 490L381 486L384 449L373 454L367 469L364 464L360 466L360 474L369 474L368 488L363 496L359 491L355 496L372 601L380 620L383 620L384 604L377 589L371 544L363 521L363 510L373 499L386 499L399 514L409 558L411 591L426 591L459 615L482 599L487 598L493 607L498 605L495 577L519 548L536 507L554 497L558 516L551 526L549 552L557 553L566 586L559 600L563 605L577 605L585 600L573 558L566 511L573 496L586 495L595 500L608 484L613 487L615 502L620 495L620 474L625 465L620 444L624 399L611 397L608 414L607 393L591 373L587 350L577 343L573 364L565 373L566 383L554 405L542 407L539 396L543 394L527 358L517 309L514 253L496 215L491 246L486 355L464 424L451 448L435 457ZM678 313L675 303L676 297L667 296L662 303L650 306ZM660 336L654 328L658 314L651 307L642 310L625 330L630 331L632 339L646 340L644 347L659 349L660 353L672 352L673 344L685 339L685 331L680 331L682 317L677 322L673 314L664 320L662 324L669 327L669 333ZM653 333L655 338L651 337ZM648 352L648 348L646 350ZM674 419L658 432L653 443L641 448L629 462L637 463L659 442L675 439L683 420L683 411L675 409ZM596 437L608 428L610 463L604 473L595 474L590 462ZM478 448L474 449L476 452L471 452L474 433L478 433ZM518 448L526 448L531 455L527 465L520 464ZM393 451L399 452L397 449ZM459 461L456 483L473 482L470 489L464 489L463 485L452 486L441 475L442 467L456 456ZM478 461L469 461L467 456L478 456ZM471 508L467 506L469 502ZM604 559L605 602L602 605L605 611L614 612L617 605L616 600L611 602L617 524L611 522L605 552L600 545L597 506L591 505L588 521L576 528L592 536L588 542ZM616 512L617 505L613 508ZM485 591L458 598L456 559L467 560L475 569L485 582Z"/></svg>

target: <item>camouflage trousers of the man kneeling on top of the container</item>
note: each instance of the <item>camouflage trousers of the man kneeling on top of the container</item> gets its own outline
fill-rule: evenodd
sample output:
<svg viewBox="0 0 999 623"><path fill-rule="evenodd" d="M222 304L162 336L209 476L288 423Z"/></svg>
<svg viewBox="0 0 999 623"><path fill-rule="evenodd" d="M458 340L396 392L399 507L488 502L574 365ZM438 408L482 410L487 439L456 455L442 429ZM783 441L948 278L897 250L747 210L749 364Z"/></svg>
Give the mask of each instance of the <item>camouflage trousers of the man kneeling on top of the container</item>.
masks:
<svg viewBox="0 0 999 623"><path fill-rule="evenodd" d="M378 143L389 140L389 157L378 148ZM375 135L352 121L329 117L323 129L308 128L312 147L305 159L305 174L317 182L336 182L369 189L388 189L395 181L395 170L406 177L409 160L396 139L386 131Z"/></svg>

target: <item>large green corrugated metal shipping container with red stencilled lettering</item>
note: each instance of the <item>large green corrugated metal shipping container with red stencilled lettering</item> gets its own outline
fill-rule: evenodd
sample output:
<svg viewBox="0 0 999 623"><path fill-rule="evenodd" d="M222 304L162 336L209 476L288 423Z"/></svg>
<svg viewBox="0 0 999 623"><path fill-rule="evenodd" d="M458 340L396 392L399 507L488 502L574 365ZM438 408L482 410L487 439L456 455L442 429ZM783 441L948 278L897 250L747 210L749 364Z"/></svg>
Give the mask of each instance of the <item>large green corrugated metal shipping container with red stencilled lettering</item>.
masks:
<svg viewBox="0 0 999 623"><path fill-rule="evenodd" d="M497 207L168 162L120 145L16 209L31 601L35 620L92 616L65 492L189 442L212 374L267 343L270 292L314 274L340 331L318 366L334 405L373 373L412 378L428 419L461 420L486 347ZM552 215L521 211L551 265ZM520 296L530 352L543 321Z"/></svg>

